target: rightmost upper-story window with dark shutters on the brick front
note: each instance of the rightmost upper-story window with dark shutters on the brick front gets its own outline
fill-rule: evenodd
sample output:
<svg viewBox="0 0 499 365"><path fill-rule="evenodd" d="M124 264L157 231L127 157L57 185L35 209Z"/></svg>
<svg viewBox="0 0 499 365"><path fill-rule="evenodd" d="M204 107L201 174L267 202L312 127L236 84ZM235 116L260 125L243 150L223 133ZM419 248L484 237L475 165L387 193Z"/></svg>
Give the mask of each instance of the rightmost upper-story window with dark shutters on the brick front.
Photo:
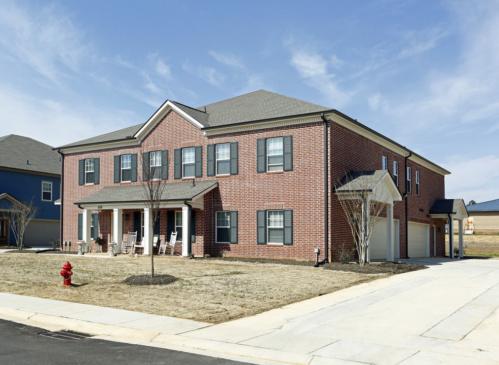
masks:
<svg viewBox="0 0 499 365"><path fill-rule="evenodd" d="M292 136L260 138L257 144L257 172L293 170Z"/></svg>

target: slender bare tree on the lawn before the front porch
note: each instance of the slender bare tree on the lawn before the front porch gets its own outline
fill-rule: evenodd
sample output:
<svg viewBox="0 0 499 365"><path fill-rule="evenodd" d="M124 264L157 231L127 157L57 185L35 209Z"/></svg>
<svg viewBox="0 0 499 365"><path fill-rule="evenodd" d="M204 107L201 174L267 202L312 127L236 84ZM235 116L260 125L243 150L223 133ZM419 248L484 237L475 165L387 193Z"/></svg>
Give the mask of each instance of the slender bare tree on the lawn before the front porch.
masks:
<svg viewBox="0 0 499 365"><path fill-rule="evenodd" d="M166 182L162 179L162 154L158 152L146 152L147 159L142 159L142 174L143 174L143 199L144 205L149 209L149 217L153 227L152 235L154 235L154 227L160 219L160 205L165 190ZM143 155L144 156L144 155ZM149 238L150 239L150 238ZM149 242L144 242L149 244ZM151 247L151 277L154 277L154 250Z"/></svg>

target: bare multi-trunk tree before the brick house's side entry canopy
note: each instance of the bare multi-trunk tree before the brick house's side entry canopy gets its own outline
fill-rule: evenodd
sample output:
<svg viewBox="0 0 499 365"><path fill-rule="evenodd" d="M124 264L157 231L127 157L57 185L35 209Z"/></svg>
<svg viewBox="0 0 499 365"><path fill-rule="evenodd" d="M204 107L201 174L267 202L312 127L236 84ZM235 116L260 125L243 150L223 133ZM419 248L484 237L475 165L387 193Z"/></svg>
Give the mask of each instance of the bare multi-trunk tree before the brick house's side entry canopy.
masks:
<svg viewBox="0 0 499 365"><path fill-rule="evenodd" d="M352 230L360 265L367 261L372 230L391 202L391 193L380 183L386 173L384 170L349 172L335 189Z"/></svg>

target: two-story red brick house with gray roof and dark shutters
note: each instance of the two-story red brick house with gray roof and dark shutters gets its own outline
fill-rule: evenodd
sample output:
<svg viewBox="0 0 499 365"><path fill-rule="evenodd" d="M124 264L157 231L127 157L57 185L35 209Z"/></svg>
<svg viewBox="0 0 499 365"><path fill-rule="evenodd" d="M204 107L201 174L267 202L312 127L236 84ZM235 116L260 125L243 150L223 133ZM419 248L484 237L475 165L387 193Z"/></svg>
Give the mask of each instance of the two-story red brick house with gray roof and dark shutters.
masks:
<svg viewBox="0 0 499 365"><path fill-rule="evenodd" d="M334 188L347 171L371 171L391 199L370 259L445 253L444 218L431 209L445 199L449 172L334 109L288 96L259 90L198 108L167 100L145 123L57 150L64 241L93 246L103 237L120 252L133 231L148 254L153 237L176 231L183 256L316 260L320 248L320 259L334 259L342 244L354 246ZM156 227L143 166L166 182Z"/></svg>

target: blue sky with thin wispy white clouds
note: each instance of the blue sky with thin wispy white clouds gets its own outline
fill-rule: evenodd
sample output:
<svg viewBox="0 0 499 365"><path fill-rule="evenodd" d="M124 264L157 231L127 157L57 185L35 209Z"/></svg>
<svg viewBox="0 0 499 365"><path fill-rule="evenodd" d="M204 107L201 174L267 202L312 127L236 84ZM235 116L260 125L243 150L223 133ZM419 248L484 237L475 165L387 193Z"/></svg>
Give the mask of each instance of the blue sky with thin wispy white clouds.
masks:
<svg viewBox="0 0 499 365"><path fill-rule="evenodd" d="M336 108L498 199L499 2L0 0L2 133L53 146L266 89ZM424 185L424 181L421 181Z"/></svg>

